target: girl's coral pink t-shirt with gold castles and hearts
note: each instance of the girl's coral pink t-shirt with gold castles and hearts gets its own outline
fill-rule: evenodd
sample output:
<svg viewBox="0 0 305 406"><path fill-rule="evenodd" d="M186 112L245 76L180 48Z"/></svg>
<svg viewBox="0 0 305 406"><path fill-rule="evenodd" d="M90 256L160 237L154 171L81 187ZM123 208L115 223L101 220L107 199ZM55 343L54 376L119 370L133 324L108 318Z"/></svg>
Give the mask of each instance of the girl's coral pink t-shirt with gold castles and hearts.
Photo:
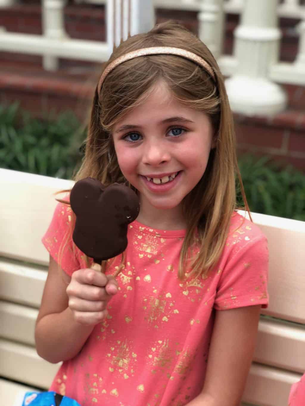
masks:
<svg viewBox="0 0 305 406"><path fill-rule="evenodd" d="M43 243L58 261L70 207L59 204ZM81 352L59 369L50 390L89 405L182 406L203 387L216 310L266 307L268 248L259 228L237 213L217 266L197 280L177 277L185 230L129 225L119 292ZM121 256L109 265L113 274ZM110 263L110 262L109 262ZM84 268L70 242L61 267Z"/></svg>

